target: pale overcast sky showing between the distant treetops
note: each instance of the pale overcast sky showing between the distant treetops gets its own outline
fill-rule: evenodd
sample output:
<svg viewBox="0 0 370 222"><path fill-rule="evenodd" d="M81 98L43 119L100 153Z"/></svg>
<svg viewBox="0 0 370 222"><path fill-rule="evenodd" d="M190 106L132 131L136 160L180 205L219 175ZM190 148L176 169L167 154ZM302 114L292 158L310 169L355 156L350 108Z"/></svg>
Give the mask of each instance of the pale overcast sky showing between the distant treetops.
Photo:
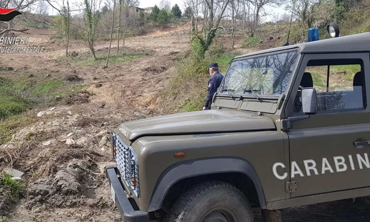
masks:
<svg viewBox="0 0 370 222"><path fill-rule="evenodd" d="M154 5L157 4L157 6L159 7L159 3L161 2L161 0L139 0L140 1L140 4L139 4L139 7L140 8L147 8L147 7L153 7ZM171 7L174 6L175 4L178 4L178 6L180 7L181 11L184 12L184 1L183 0L169 0L171 1ZM62 2L61 0L55 0L55 2ZM81 3L83 2L83 0L70 0L70 5L73 6L73 5L80 5ZM102 4L101 6L104 6L104 2L105 0L102 0ZM72 4L71 4L72 3ZM75 4L73 4L75 3ZM57 7L57 6L55 6ZM59 8L59 7L57 7ZM266 11L270 14L274 13L279 13L279 14L284 14L285 13L285 10L284 10L284 7L266 7L265 8ZM53 9L52 7L49 6L49 14L51 15L57 15L57 10ZM268 16L266 18L266 21L269 21L271 20L271 16Z"/></svg>

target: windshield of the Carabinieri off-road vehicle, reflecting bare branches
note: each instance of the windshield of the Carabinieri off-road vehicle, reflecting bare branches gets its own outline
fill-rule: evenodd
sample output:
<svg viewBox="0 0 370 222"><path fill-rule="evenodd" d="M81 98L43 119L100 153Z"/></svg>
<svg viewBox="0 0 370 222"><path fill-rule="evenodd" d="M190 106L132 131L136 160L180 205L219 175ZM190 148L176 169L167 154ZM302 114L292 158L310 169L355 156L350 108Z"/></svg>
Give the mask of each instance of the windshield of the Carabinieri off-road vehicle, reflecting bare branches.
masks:
<svg viewBox="0 0 370 222"><path fill-rule="evenodd" d="M297 61L297 51L233 61L220 92L279 97L286 91Z"/></svg>

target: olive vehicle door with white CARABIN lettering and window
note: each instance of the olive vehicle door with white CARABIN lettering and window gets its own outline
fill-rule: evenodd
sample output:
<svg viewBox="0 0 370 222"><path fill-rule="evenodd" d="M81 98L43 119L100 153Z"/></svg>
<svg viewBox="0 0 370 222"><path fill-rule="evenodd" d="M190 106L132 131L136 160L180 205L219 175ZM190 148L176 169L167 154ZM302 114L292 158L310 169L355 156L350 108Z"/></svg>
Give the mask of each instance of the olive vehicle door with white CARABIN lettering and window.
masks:
<svg viewBox="0 0 370 222"><path fill-rule="evenodd" d="M288 132L291 197L370 186L369 53L305 54L286 117L306 115L298 83L316 89L318 108Z"/></svg>

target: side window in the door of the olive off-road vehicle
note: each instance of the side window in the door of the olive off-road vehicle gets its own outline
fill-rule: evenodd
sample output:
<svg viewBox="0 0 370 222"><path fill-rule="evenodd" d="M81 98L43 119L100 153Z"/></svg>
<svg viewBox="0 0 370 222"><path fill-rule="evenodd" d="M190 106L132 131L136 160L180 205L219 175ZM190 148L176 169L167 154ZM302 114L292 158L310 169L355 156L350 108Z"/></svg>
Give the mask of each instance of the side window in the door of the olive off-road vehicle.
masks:
<svg viewBox="0 0 370 222"><path fill-rule="evenodd" d="M363 60L310 60L300 84L314 87L317 112L363 110L366 108L366 87ZM297 92L294 112L302 112L302 98Z"/></svg>

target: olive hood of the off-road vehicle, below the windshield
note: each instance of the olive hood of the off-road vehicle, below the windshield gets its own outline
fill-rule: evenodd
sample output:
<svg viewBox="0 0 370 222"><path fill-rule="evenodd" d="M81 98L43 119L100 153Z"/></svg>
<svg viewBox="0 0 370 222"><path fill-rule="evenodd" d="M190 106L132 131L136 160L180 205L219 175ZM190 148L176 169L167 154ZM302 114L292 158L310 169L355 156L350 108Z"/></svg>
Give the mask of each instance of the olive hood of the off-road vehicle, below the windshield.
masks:
<svg viewBox="0 0 370 222"><path fill-rule="evenodd" d="M275 130L265 116L239 111L204 110L162 115L122 123L118 130L130 141L145 135L204 134Z"/></svg>

